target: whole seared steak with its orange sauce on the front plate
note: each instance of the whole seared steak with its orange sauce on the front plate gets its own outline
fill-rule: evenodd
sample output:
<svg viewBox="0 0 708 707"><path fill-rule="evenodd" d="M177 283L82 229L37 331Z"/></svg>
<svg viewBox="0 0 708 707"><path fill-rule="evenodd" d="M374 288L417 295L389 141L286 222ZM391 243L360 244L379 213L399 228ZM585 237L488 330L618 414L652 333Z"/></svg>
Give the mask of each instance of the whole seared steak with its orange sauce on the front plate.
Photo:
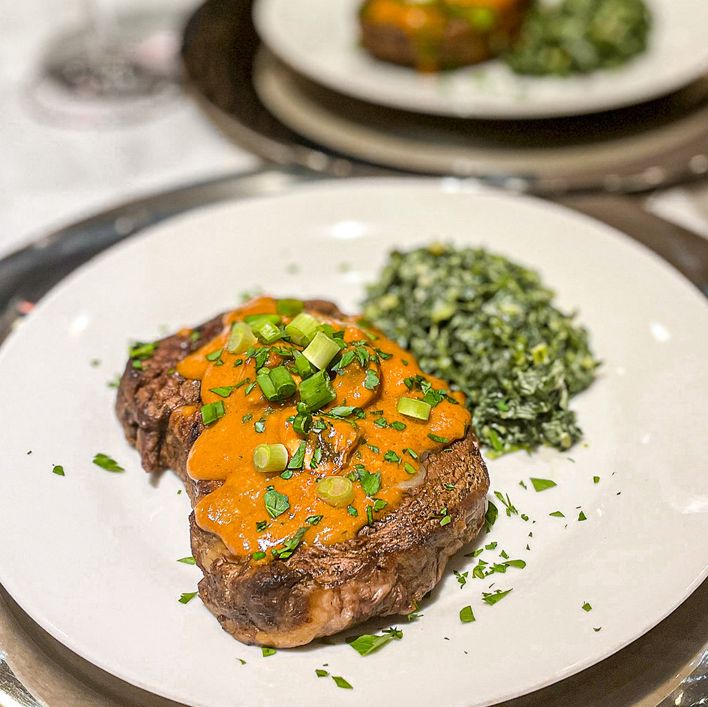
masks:
<svg viewBox="0 0 708 707"><path fill-rule="evenodd" d="M300 386L313 375L295 366L307 345L287 335L229 345L237 322L255 327L253 316L277 310L259 298L161 340L128 362L116 410L144 468L169 466L185 482L207 607L245 643L292 646L412 611L484 523L489 481L459 393L328 303L307 311L340 342L318 372L331 399L315 409L297 392L268 400L258 375L285 364ZM426 403L427 419L400 413L401 398ZM285 469L258 469L262 442L287 449ZM351 482L348 505L319 493L331 476Z"/></svg>

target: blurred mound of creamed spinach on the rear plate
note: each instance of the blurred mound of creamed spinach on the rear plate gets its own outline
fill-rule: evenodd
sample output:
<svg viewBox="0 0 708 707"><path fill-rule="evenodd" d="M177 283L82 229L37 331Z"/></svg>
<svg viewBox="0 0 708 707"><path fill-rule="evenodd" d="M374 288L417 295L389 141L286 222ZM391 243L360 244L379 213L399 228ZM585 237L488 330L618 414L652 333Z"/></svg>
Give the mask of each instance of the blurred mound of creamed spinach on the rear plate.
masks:
<svg viewBox="0 0 708 707"><path fill-rule="evenodd" d="M567 76L622 66L646 50L642 0L536 2L502 58L518 74Z"/></svg>

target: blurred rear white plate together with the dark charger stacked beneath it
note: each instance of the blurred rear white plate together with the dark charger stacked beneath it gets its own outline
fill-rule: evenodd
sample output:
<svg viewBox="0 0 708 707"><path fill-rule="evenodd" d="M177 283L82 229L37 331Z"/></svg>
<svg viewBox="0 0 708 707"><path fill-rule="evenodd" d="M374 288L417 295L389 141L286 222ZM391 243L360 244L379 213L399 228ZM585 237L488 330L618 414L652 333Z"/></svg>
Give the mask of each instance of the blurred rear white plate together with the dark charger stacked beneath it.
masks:
<svg viewBox="0 0 708 707"><path fill-rule="evenodd" d="M248 1L209 0L186 76L223 130L279 162L643 190L708 169L708 6L647 4L649 50L625 67L535 78L501 62L437 76L378 62L358 44L358 0L260 0L255 27Z"/></svg>

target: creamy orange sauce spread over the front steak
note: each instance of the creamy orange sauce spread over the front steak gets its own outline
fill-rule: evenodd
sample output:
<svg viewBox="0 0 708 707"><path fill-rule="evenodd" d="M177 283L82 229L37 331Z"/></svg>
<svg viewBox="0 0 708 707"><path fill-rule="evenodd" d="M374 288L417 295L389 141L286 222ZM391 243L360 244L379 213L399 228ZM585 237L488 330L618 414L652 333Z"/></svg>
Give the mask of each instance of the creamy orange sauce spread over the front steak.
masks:
<svg viewBox="0 0 708 707"><path fill-rule="evenodd" d="M459 404L464 402L461 393L451 394L455 402L444 397L433 406L427 421L398 413L396 406L401 396L423 397L419 386L413 384L411 389L405 382L423 376L411 354L376 330L359 326L355 318L338 321L312 313L333 330L343 330L347 346L342 354L353 348L353 342L365 341L363 348L370 360L362 367L355 359L340 373L332 374L336 400L312 413L314 425L307 435L298 434L292 427L299 401L297 393L285 401L270 402L258 385L252 385L256 381L255 353L264 345L256 343L250 356L249 352L232 354L227 350L233 322L251 314L275 311L275 299L251 300L224 316L222 333L177 366L183 377L201 381L202 403L222 401L224 405L224 415L207 425L188 458L191 478L223 482L195 506L196 521L203 529L221 537L234 554L258 553L256 559L263 561L272 559L273 548L276 551L282 548L302 528L307 528L302 535L304 544L326 545L352 538L372 519L383 517L396 507L407 485L422 481L420 459L405 450L412 449L420 456L444 444L430 439L429 434L452 442L464 437L470 423L469 412ZM289 321L288 317L282 318L282 323ZM295 345L278 340L273 347L287 350ZM213 359L219 349L222 353L217 360L207 358L212 354ZM289 363L292 358L271 350L265 365ZM365 386L367 369L373 370L379 379L374 389ZM293 378L299 382L295 372ZM433 389L447 392L443 381L424 378ZM226 397L212 392L227 386L235 387ZM350 415L346 420L326 416L329 410L342 405L362 408L363 415L359 413L360 419ZM394 427L392 423L396 423ZM396 429L401 425L405 427ZM315 429L318 426L323 429ZM284 444L292 459L302 442L306 443L304 464L302 469L292 471L290 478L282 478L280 473L263 473L253 464L253 449L258 444ZM318 479L351 474L356 478L359 465L381 475L380 488L371 498L359 481L354 482L355 497L349 507L333 507L318 497ZM264 495L268 488L287 497L289 507L277 517L270 517L266 510ZM376 500L377 510L374 510ZM313 524L318 516L321 519ZM265 556L261 557L261 553Z"/></svg>

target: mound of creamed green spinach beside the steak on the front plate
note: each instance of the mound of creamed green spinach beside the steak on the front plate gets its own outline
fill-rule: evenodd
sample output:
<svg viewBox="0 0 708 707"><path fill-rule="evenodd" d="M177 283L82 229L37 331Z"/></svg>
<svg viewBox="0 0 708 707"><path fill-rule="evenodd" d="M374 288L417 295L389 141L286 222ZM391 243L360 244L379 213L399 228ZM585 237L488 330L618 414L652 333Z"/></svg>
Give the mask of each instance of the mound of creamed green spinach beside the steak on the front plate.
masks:
<svg viewBox="0 0 708 707"><path fill-rule="evenodd" d="M484 249L394 251L363 314L422 369L467 395L489 456L582 433L569 400L595 378L587 331L553 306L536 272Z"/></svg>

